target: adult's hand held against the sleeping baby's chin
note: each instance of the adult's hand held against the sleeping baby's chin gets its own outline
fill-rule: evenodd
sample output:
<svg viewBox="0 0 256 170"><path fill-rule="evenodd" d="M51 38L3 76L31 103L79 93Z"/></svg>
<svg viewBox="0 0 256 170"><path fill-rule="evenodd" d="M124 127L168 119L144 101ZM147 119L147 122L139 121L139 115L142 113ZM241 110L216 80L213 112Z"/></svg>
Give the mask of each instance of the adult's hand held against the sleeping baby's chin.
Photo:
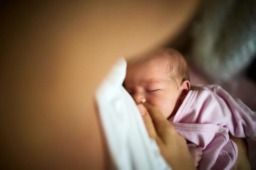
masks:
<svg viewBox="0 0 256 170"><path fill-rule="evenodd" d="M162 156L172 169L196 169L185 139L176 132L159 108L146 103L139 104L138 108L150 138L157 142Z"/></svg>

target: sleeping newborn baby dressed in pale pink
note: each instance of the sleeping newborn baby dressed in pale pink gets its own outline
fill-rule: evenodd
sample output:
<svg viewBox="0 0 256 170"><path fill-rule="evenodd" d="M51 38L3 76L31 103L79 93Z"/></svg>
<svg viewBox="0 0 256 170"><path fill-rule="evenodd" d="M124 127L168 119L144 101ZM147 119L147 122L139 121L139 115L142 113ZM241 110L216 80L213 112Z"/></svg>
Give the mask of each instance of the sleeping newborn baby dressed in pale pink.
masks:
<svg viewBox="0 0 256 170"><path fill-rule="evenodd" d="M228 133L256 140L255 113L219 86L191 87L187 63L177 50L156 50L130 61L126 71L124 87L135 103L159 107L189 142L199 169L234 165L237 146Z"/></svg>

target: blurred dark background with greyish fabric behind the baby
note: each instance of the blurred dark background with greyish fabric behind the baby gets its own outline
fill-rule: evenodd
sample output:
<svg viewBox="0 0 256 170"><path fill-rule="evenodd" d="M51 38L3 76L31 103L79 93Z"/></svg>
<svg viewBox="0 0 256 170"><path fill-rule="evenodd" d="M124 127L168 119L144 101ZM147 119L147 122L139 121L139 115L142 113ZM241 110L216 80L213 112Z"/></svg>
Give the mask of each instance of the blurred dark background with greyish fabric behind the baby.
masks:
<svg viewBox="0 0 256 170"><path fill-rule="evenodd" d="M195 17L166 46L185 55L192 84L219 84L256 111L256 1L201 1ZM256 169L256 145L247 142Z"/></svg>

